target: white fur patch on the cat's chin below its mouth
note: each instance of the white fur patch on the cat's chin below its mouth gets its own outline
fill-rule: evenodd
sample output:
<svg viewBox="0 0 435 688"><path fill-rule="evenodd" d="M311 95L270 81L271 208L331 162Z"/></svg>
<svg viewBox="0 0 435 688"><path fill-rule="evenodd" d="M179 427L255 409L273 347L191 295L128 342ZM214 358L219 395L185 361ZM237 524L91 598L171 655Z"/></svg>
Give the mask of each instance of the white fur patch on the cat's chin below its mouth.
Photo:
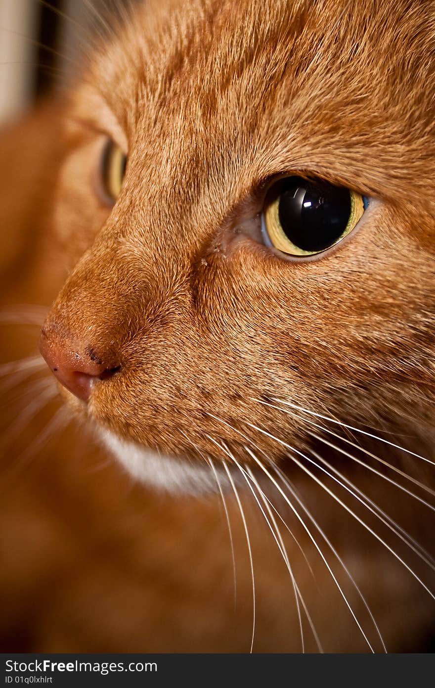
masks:
<svg viewBox="0 0 435 688"><path fill-rule="evenodd" d="M212 469L161 455L136 442L122 440L108 430L98 429L106 447L122 466L140 482L172 493L199 495L217 490ZM226 482L223 471L216 469L219 480Z"/></svg>

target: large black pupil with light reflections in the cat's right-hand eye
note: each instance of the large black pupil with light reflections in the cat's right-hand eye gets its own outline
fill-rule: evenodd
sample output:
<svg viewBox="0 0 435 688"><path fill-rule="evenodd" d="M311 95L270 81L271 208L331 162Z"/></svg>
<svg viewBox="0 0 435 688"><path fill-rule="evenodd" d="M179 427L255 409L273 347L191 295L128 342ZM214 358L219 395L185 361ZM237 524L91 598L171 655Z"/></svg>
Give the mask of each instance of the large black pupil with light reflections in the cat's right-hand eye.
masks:
<svg viewBox="0 0 435 688"><path fill-rule="evenodd" d="M335 244L350 217L350 191L328 182L287 177L274 187L285 235L298 248L322 251Z"/></svg>

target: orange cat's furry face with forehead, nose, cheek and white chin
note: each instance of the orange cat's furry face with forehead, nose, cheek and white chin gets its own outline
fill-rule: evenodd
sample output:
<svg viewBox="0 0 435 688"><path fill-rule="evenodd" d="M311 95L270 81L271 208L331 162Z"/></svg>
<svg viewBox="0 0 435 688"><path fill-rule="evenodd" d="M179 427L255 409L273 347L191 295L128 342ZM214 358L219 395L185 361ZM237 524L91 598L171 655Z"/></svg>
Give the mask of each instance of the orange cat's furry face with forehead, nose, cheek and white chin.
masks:
<svg viewBox="0 0 435 688"><path fill-rule="evenodd" d="M303 449L313 428L276 400L427 429L429 4L139 3L91 55L57 190L58 233L78 263L42 346L137 475L189 489L225 450L278 460L286 449L265 433ZM122 153L111 207L101 161L110 191ZM369 199L343 241L293 257L267 245L263 211L291 176Z"/></svg>

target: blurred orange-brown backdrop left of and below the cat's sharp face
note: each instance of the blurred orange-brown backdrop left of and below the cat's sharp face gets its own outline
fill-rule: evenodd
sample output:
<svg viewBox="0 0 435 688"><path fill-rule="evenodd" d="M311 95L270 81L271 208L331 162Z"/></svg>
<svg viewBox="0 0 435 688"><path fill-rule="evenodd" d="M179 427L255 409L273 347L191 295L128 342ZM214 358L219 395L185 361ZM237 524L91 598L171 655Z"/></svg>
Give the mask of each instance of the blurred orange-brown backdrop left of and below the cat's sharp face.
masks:
<svg viewBox="0 0 435 688"><path fill-rule="evenodd" d="M100 13L117 4L120 0L0 0L0 128L74 76L89 34L101 30ZM225 515L218 494L176 499L133 482L75 424L41 365L39 329L65 279L44 215L56 174L50 155L56 160L57 154L50 153L56 146L54 119L44 118L44 112L36 113L27 124L8 129L0 152L6 163L0 166L0 649L249 652L251 569L234 499L227 497ZM304 490L303 480L300 485L315 511L316 494ZM249 495L245 501L256 575L254 649L300 652L287 568ZM403 512L403 504L395 503ZM277 506L297 528L285 504ZM355 541L334 508L330 519L333 526L341 524L339 539ZM290 535L283 537L292 552ZM361 532L358 537L364 555L370 537ZM361 638L355 641L348 632L346 605L337 601L311 550L306 563L295 552L294 570L302 594L311 598L326 651L365 651ZM384 564L392 578L396 570ZM321 593L311 574L324 581ZM378 575L375 570L360 581L369 595L376 595L371 583ZM389 627L388 595L373 602ZM404 594L403 603L403 625L390 629L394 647L432 650L433 620L429 641L419 621L430 616L426 597L409 605ZM308 652L317 649L311 636L306 643Z"/></svg>

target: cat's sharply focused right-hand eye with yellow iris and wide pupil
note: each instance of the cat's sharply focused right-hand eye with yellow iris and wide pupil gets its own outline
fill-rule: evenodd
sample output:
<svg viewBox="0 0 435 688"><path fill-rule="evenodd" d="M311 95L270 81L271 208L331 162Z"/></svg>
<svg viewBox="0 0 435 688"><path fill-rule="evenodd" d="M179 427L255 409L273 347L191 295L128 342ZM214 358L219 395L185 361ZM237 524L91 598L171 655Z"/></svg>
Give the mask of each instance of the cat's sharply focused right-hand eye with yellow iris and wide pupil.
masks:
<svg viewBox="0 0 435 688"><path fill-rule="evenodd" d="M287 255L315 255L342 241L367 205L366 197L343 186L286 177L267 193L261 217L263 241Z"/></svg>

